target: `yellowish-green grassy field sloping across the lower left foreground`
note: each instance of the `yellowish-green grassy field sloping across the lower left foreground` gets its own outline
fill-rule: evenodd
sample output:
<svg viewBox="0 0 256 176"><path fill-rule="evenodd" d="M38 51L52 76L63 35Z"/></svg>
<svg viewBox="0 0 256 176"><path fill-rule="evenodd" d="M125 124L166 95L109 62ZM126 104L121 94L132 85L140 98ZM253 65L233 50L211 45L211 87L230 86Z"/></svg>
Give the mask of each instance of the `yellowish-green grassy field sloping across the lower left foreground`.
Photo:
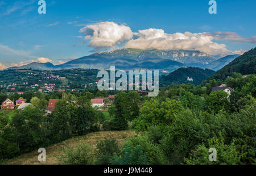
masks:
<svg viewBox="0 0 256 176"><path fill-rule="evenodd" d="M89 133L85 136L74 137L72 139L68 139L63 141L62 143L58 143L55 145L48 146L46 148L46 162L40 163L38 161L39 153L37 151L22 154L19 157L13 158L11 160L6 161L3 164L7 165L56 165L58 164L57 156L63 153L63 149L65 146L75 147L80 143L86 143L92 146L93 149L96 149L97 141L104 140L109 138L110 136L114 137L118 141L119 146L122 146L123 142L125 142L130 136L136 135L135 132L131 130L126 131L101 131Z"/></svg>

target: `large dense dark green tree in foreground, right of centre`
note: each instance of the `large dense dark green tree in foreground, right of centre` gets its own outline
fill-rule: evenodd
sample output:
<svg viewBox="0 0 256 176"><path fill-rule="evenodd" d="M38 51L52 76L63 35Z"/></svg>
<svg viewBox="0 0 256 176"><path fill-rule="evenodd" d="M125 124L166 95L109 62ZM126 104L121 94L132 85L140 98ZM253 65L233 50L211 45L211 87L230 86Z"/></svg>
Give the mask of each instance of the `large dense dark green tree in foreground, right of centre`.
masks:
<svg viewBox="0 0 256 176"><path fill-rule="evenodd" d="M190 110L181 111L167 129L167 135L160 141L160 148L171 164L181 164L183 158L199 143L207 141L209 127L203 116Z"/></svg>

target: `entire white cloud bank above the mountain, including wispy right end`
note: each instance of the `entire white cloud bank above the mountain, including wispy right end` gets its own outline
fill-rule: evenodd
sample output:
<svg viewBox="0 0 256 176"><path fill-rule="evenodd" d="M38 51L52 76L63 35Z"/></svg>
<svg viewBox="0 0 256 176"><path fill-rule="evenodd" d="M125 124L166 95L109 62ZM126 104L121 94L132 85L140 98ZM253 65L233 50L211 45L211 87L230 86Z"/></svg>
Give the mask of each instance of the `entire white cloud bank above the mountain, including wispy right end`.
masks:
<svg viewBox="0 0 256 176"><path fill-rule="evenodd" d="M209 28L204 26L204 28ZM84 39L89 40L88 46L94 50L104 47L115 48L121 41L127 41L125 48L160 49L160 50L198 50L209 55L242 54L245 51L230 51L225 44L256 43L256 36L243 38L236 32L200 32L200 33L165 33L162 29L149 28L132 32L130 27L114 22L98 22L80 29ZM133 38L134 36L134 38ZM75 45L76 46L76 45Z"/></svg>

